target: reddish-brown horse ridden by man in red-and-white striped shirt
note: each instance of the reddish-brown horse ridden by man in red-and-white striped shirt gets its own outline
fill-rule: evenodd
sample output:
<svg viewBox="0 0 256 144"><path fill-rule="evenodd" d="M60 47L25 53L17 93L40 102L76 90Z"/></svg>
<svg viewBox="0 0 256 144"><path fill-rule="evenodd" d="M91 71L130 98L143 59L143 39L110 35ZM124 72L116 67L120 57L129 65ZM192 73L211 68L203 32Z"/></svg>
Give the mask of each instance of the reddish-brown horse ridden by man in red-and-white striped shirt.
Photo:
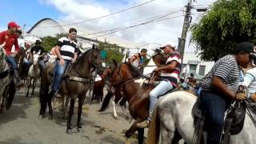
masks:
<svg viewBox="0 0 256 144"><path fill-rule="evenodd" d="M148 97L150 90L154 88L153 85L140 86L139 83L134 82L134 77L139 74L137 70L131 68L129 64L121 63L119 66L114 61L114 66L111 67L110 85L114 89L120 89L129 103L130 115L135 119L135 122L126 131L126 143L129 143L130 136L138 131L138 143L143 143L144 129L139 129L138 122L146 120L149 111L150 98Z"/></svg>

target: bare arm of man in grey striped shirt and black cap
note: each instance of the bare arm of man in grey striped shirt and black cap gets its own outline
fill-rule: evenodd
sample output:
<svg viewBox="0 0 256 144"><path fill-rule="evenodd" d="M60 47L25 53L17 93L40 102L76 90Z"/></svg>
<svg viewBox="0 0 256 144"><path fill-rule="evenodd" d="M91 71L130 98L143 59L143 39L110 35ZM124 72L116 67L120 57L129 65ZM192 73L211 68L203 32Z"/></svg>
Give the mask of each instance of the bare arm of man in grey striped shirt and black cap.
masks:
<svg viewBox="0 0 256 144"><path fill-rule="evenodd" d="M212 84L216 90L220 90L223 95L229 96L230 98L235 98L235 93L226 88L222 78L214 76Z"/></svg>

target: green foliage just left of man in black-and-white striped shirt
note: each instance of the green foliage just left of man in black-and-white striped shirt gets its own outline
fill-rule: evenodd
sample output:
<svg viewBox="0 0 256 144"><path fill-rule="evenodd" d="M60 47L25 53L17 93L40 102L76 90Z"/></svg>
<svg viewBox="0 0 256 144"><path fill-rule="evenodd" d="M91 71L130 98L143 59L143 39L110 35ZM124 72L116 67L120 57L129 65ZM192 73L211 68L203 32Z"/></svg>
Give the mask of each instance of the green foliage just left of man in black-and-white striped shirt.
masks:
<svg viewBox="0 0 256 144"><path fill-rule="evenodd" d="M50 51L56 45L56 43L58 42L58 39L64 36L66 36L66 34L56 34L56 37L51 37L51 36L44 37L42 38L41 46L45 50Z"/></svg>

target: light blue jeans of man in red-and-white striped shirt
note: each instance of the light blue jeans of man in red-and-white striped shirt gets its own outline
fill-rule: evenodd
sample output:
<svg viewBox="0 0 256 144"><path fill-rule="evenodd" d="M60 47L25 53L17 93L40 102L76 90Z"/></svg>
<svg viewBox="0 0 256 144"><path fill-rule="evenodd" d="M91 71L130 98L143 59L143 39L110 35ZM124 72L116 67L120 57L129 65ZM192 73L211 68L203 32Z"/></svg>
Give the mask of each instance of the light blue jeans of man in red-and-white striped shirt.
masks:
<svg viewBox="0 0 256 144"><path fill-rule="evenodd" d="M148 118L149 121L151 121L154 105L156 102L158 102L158 98L160 98L162 94L166 94L167 91L172 90L173 88L174 86L170 82L161 81L158 86L150 91L150 117Z"/></svg>

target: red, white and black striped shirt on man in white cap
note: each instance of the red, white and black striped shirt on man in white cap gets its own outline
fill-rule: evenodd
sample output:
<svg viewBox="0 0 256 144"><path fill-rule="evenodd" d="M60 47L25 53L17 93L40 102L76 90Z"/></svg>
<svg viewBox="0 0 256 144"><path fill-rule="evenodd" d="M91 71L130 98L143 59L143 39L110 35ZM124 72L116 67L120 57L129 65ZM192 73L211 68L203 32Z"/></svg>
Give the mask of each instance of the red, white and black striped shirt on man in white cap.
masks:
<svg viewBox="0 0 256 144"><path fill-rule="evenodd" d="M174 51L174 53L170 54L170 56L166 60L166 65L170 64L170 62L178 62L178 66L175 67L174 70L171 71L161 71L160 77L162 80L168 80L173 86L178 86L178 75L182 69L182 60L178 52Z"/></svg>

